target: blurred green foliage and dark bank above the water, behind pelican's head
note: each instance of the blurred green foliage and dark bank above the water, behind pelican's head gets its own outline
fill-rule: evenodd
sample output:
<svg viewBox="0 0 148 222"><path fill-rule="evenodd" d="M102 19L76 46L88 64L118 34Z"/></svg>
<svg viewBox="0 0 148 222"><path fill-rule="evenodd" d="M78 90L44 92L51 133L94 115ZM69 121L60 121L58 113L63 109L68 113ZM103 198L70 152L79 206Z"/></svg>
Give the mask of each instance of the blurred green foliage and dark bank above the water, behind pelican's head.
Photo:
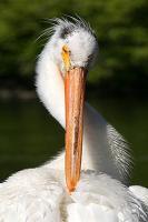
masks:
<svg viewBox="0 0 148 222"><path fill-rule="evenodd" d="M1 0L0 75L31 77L47 18L79 14L96 30L100 56L89 77L112 88L147 87L147 0Z"/></svg>

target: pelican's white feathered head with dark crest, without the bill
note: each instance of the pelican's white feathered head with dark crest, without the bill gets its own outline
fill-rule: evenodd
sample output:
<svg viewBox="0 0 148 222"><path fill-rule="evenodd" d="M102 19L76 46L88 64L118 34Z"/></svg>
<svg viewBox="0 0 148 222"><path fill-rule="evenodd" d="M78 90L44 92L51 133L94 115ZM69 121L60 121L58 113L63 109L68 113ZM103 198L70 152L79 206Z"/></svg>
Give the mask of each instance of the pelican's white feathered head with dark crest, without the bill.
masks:
<svg viewBox="0 0 148 222"><path fill-rule="evenodd" d="M52 30L55 32L50 41L52 57L63 75L68 64L66 65L61 54L66 51L69 53L69 68L79 67L88 70L93 64L98 53L98 42L93 30L86 21L56 19Z"/></svg>

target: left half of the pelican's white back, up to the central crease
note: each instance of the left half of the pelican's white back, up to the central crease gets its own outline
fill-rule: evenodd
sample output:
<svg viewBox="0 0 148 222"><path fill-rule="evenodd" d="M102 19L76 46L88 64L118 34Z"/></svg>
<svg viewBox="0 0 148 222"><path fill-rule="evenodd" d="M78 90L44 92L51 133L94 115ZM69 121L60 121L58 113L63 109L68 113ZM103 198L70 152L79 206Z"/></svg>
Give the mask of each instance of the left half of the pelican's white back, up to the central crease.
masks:
<svg viewBox="0 0 148 222"><path fill-rule="evenodd" d="M0 186L0 222L61 222L62 195L52 170L20 171Z"/></svg>

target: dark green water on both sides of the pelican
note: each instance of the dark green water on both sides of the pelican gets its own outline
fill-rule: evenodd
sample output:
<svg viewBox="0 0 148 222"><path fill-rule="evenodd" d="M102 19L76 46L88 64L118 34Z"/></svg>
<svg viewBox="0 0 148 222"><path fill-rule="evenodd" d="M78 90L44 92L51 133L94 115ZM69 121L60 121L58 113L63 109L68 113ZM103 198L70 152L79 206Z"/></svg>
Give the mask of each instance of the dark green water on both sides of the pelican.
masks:
<svg viewBox="0 0 148 222"><path fill-rule="evenodd" d="M88 100L129 141L135 157L132 183L148 186L148 101L98 99L96 93ZM38 100L0 101L1 180L43 163L62 147L63 130Z"/></svg>

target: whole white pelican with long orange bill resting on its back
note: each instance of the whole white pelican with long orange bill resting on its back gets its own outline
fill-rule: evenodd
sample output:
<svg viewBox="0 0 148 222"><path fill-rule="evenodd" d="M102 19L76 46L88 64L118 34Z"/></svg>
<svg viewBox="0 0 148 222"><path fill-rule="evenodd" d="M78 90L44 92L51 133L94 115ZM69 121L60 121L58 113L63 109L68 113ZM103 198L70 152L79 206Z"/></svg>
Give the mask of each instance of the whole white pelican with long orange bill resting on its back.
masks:
<svg viewBox="0 0 148 222"><path fill-rule="evenodd" d="M86 78L98 53L93 30L80 18L62 18L50 31L36 85L66 129L66 158L61 152L1 183L0 222L148 221L148 190L126 186L131 164L127 142L85 102Z"/></svg>

